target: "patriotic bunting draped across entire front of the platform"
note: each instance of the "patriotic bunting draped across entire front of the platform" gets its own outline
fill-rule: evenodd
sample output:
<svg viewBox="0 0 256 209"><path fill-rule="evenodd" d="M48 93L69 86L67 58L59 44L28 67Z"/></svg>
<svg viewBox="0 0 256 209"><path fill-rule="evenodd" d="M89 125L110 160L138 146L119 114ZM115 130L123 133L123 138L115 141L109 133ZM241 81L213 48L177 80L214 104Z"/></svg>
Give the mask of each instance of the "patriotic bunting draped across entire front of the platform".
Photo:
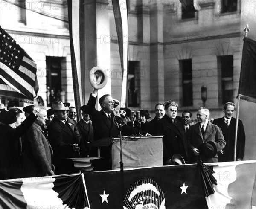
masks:
<svg viewBox="0 0 256 209"><path fill-rule="evenodd" d="M2 180L0 208L252 208L256 160L201 166L204 177L190 164Z"/></svg>

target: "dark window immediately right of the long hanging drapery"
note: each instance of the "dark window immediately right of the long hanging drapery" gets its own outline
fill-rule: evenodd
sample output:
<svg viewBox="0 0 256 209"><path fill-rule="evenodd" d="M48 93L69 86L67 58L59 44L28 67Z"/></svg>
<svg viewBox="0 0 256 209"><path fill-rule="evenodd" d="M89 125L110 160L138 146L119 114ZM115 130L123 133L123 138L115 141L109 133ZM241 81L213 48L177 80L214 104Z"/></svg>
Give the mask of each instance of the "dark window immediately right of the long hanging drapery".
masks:
<svg viewBox="0 0 256 209"><path fill-rule="evenodd" d="M128 106L140 105L140 62L129 61L128 71Z"/></svg>

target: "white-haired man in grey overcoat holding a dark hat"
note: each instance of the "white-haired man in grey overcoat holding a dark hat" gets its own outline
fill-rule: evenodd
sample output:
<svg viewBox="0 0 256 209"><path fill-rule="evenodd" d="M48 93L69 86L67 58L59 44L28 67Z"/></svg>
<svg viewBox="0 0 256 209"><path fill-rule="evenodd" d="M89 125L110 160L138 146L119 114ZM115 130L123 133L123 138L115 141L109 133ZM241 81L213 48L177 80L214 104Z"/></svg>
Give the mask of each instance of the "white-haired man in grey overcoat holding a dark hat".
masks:
<svg viewBox="0 0 256 209"><path fill-rule="evenodd" d="M198 123L192 125L187 133L188 149L191 152L190 163L218 162L217 151L221 151L226 142L221 129L208 121L210 112L201 107L197 113Z"/></svg>

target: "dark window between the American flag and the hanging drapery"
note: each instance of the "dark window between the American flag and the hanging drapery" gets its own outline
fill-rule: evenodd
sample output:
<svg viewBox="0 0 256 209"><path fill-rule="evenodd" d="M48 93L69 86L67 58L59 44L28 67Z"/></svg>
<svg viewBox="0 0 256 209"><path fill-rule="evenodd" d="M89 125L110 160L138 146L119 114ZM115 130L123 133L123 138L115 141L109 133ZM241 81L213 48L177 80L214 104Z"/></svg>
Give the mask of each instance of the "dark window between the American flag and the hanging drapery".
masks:
<svg viewBox="0 0 256 209"><path fill-rule="evenodd" d="M62 57L46 57L47 106L51 106L54 101L63 101L61 99L62 60Z"/></svg>

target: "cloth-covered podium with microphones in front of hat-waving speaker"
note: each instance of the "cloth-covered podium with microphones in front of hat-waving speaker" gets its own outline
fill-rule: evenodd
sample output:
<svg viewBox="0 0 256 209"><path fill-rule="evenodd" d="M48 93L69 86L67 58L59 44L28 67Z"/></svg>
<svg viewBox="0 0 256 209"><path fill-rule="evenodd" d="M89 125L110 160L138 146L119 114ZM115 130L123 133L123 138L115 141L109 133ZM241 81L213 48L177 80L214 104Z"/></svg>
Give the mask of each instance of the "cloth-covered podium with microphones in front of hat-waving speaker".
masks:
<svg viewBox="0 0 256 209"><path fill-rule="evenodd" d="M120 138L114 137L111 146L112 170L120 169ZM163 165L163 136L122 138L124 168Z"/></svg>

